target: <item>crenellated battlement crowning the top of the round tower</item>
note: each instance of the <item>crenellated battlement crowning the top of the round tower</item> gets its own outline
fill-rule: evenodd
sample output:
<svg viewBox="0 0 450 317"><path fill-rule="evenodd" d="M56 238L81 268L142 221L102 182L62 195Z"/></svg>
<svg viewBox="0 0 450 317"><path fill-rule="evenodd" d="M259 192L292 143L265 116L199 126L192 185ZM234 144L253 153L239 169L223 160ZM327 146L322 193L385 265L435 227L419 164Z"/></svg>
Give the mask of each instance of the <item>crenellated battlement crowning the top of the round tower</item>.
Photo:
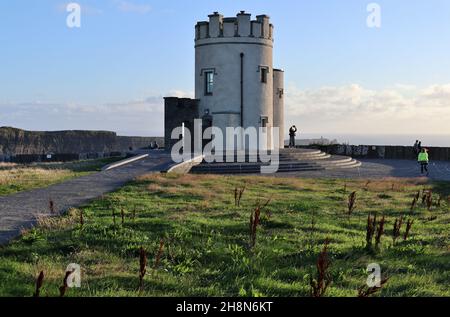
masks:
<svg viewBox="0 0 450 317"><path fill-rule="evenodd" d="M236 17L225 18L219 12L209 15L209 21L198 22L195 26L195 40L209 38L251 37L273 40L273 25L270 17L258 15L255 20L245 11Z"/></svg>

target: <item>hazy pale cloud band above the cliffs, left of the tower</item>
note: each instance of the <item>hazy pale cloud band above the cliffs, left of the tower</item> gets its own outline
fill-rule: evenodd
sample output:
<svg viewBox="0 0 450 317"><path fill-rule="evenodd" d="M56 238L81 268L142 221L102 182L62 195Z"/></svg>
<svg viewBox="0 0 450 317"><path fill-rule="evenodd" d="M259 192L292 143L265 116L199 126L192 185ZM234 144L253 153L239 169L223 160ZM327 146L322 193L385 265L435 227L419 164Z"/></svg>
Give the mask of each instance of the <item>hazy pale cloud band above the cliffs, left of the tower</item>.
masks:
<svg viewBox="0 0 450 317"><path fill-rule="evenodd" d="M164 99L152 96L129 102L3 103L0 126L26 130L109 130L122 135L162 136Z"/></svg>

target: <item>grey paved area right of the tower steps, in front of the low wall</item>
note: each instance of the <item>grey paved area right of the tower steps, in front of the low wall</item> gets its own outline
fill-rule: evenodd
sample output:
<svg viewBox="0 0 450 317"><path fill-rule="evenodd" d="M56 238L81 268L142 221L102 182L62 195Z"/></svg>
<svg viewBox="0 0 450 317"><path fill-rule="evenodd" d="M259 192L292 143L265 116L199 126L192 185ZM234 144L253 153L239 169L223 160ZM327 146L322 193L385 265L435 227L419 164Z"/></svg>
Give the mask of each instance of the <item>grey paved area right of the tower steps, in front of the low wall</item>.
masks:
<svg viewBox="0 0 450 317"><path fill-rule="evenodd" d="M408 160L359 160L362 166L352 169L324 170L310 172L279 173L277 177L324 177L324 178L363 178L376 179L387 177L415 178L420 174L420 166ZM450 162L436 161L429 166L429 179L450 181Z"/></svg>

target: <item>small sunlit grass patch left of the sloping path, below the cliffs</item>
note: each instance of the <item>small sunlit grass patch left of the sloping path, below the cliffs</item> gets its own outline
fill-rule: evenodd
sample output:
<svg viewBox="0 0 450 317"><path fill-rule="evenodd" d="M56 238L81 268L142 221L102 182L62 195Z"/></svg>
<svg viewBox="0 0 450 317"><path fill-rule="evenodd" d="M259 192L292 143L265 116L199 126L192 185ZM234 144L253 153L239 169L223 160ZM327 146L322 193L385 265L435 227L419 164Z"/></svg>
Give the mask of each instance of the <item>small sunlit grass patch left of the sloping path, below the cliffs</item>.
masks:
<svg viewBox="0 0 450 317"><path fill-rule="evenodd" d="M120 158L86 160L70 163L19 165L0 163L0 196L46 187L71 178L87 175Z"/></svg>

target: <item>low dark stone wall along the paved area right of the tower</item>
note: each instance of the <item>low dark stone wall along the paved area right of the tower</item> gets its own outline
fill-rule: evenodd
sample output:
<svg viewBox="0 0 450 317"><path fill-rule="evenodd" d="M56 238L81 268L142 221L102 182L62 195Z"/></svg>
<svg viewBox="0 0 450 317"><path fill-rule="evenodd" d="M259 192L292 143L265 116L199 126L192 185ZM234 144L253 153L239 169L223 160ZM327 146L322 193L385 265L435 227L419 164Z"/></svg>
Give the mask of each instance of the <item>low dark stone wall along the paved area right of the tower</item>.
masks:
<svg viewBox="0 0 450 317"><path fill-rule="evenodd" d="M354 158L416 160L412 146L387 145L314 145L307 148L320 149L328 154L347 155ZM450 161L450 148L426 147L430 160Z"/></svg>

